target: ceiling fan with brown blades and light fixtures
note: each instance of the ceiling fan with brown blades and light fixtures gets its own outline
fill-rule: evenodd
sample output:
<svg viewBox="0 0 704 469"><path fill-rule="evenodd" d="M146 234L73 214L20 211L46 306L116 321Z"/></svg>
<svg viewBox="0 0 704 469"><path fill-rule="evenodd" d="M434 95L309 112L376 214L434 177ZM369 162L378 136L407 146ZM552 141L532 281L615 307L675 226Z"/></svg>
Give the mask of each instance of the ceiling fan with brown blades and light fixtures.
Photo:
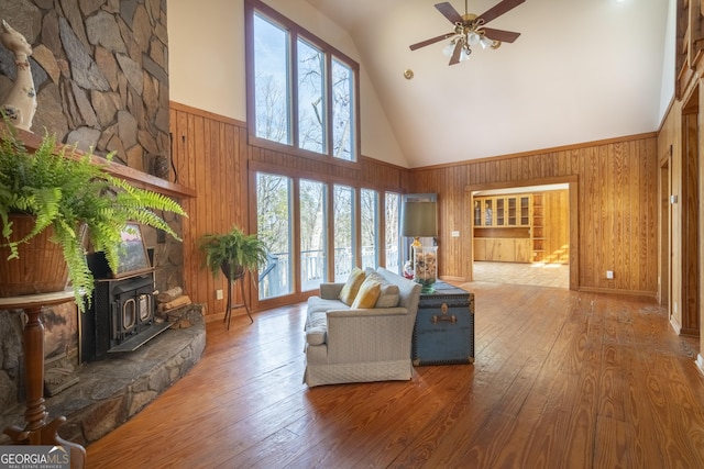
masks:
<svg viewBox="0 0 704 469"><path fill-rule="evenodd" d="M464 0L463 15L458 13L450 2L437 3L436 9L454 24L454 30L451 33L413 44L410 45L410 49L416 51L440 41L450 40L450 43L444 47L443 52L450 56L449 65L454 65L470 57L470 54L472 54L471 46L473 45L480 44L482 48L498 48L502 42L513 43L520 36L520 33L494 30L492 27L485 27L485 24L513 10L526 0L503 0L479 15L468 13L466 1L468 0Z"/></svg>

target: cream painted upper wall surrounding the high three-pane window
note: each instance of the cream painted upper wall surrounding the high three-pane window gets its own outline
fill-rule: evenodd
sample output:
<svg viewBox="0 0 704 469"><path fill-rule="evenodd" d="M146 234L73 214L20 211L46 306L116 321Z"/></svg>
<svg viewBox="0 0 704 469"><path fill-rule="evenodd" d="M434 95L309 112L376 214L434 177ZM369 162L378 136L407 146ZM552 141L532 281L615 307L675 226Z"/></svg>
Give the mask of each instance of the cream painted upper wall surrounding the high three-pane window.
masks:
<svg viewBox="0 0 704 469"><path fill-rule="evenodd" d="M268 5L355 60L350 35L302 0ZM169 99L246 121L244 0L168 0ZM408 167L360 64L362 155Z"/></svg>

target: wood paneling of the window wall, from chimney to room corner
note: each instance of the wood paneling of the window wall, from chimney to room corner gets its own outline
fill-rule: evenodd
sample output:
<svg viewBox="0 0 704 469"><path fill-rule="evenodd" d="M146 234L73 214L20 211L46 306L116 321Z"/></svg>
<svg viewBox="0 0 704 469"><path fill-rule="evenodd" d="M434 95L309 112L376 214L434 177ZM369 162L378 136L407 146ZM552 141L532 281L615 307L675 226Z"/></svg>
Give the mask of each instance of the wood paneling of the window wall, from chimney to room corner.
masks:
<svg viewBox="0 0 704 469"><path fill-rule="evenodd" d="M330 161L282 152L248 141L246 124L218 114L176 102L170 103L173 138L172 180L195 189L197 196L183 201L189 219L184 222L184 291L194 302L206 304L208 320L222 317L227 305L227 281L213 279L201 269L202 257L198 241L207 233L222 233L237 225L245 232L256 230L255 171L311 178L328 183L344 183L355 188L405 192L408 171L372 158L362 157L360 164ZM248 303L254 310L282 301L300 301L301 297L260 303L252 282L245 283ZM216 299L216 290L223 290L223 299ZM241 301L239 288L234 290ZM244 314L235 311L233 314Z"/></svg>

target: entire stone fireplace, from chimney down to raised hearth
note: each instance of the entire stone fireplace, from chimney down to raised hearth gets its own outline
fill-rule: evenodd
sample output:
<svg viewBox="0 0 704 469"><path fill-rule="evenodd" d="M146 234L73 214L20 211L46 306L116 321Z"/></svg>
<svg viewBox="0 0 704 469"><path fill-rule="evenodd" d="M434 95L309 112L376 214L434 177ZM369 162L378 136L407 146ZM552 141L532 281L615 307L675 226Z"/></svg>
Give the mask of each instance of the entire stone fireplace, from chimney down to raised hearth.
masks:
<svg viewBox="0 0 704 469"><path fill-rule="evenodd" d="M46 129L57 142L98 156L114 152L114 161L144 174L156 174L155 163L170 159L166 0L2 0L0 18L33 48L34 133ZM12 54L0 46L0 103L15 74ZM175 179L173 174L162 177ZM166 214L165 220L183 233L180 217ZM145 230L144 241L152 254L153 286L162 291L182 286L183 245L153 230ZM135 309L128 306L118 316L123 342L153 322L136 308L144 301L139 295L134 304L125 300ZM57 368L51 381L62 375L78 378L45 392L47 411L68 418L62 425L64 438L80 444L99 438L198 361L205 348L200 306L185 314L190 328L160 334L110 359L81 362L79 332L86 317L73 302L43 311L45 362ZM0 429L22 420L23 321L20 310L0 311ZM7 437L0 435L3 443Z"/></svg>

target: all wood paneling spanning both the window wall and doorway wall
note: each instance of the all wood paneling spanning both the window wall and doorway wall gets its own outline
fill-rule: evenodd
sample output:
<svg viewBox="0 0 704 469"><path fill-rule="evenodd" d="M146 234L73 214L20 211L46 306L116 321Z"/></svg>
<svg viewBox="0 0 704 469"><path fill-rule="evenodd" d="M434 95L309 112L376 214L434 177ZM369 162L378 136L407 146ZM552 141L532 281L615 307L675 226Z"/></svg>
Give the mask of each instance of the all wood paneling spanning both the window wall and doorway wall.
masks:
<svg viewBox="0 0 704 469"><path fill-rule="evenodd" d="M316 178L354 187L436 192L440 210L439 273L471 278L471 208L477 188L575 182L570 202L571 277L575 288L654 295L657 290L657 141L637 135L588 145L553 148L463 164L406 170L371 158L360 165L324 161L250 145L243 122L172 103L173 159L177 181L198 193L184 200L184 290L207 314L221 317L227 292L222 277L201 269L198 239L233 225L254 231L252 176L256 170ZM572 199L572 197L571 197ZM460 231L460 237L452 237ZM606 279L606 270L615 278ZM251 294L248 286L248 294ZM226 295L227 298L227 295ZM238 299L239 300L239 299ZM266 308L255 298L255 309ZM235 313L237 314L237 313Z"/></svg>

